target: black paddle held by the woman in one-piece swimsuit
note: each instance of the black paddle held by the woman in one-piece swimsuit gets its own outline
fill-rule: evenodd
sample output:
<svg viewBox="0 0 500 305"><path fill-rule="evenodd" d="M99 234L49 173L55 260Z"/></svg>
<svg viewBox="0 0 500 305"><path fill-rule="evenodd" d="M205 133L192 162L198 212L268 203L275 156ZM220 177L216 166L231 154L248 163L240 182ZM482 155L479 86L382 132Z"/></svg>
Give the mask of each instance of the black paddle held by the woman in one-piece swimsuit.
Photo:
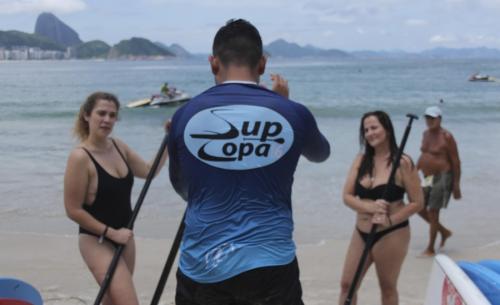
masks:
<svg viewBox="0 0 500 305"><path fill-rule="evenodd" d="M142 205L142 202L144 201L144 197L146 197L146 193L149 189L149 185L151 184L151 181L153 180L153 177L155 176L156 170L158 168L158 164L160 164L161 157L163 155L163 152L166 149L167 141L168 141L168 134L165 134L165 137L163 138L163 142L161 143L160 149L158 150L158 153L156 154L156 158L153 162L153 165L151 166L151 169L149 170L148 176L146 178L146 182L144 183L144 186L142 187L141 193L139 194L139 198L137 199L137 203L135 204L134 210L132 211L132 217L130 218L130 221L128 222L128 225L127 225L128 229L132 229L134 226L135 219L137 218L137 215L139 214L139 210L141 209L141 205ZM118 248L116 248L115 254L113 255L113 259L111 260L111 263L109 264L108 271L106 272L106 275L104 276L104 280L101 284L101 288L99 290L99 293L97 294L94 305L101 304L102 298L104 297L104 293L106 292L109 285L111 284L111 280L113 279L113 274L115 273L116 266L118 266L118 260L120 259L120 256L122 255L122 252L124 249L125 249L125 245L119 245Z"/></svg>

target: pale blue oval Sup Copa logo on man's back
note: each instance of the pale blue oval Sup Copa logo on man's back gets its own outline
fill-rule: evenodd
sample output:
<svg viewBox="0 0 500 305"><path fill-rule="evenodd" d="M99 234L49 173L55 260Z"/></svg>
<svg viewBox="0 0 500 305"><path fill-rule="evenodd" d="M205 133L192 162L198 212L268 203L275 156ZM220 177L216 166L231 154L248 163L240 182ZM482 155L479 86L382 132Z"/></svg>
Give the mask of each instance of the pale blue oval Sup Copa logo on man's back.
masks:
<svg viewBox="0 0 500 305"><path fill-rule="evenodd" d="M292 146L293 129L283 116L265 107L214 107L189 120L184 142L202 162L246 170L279 160Z"/></svg>

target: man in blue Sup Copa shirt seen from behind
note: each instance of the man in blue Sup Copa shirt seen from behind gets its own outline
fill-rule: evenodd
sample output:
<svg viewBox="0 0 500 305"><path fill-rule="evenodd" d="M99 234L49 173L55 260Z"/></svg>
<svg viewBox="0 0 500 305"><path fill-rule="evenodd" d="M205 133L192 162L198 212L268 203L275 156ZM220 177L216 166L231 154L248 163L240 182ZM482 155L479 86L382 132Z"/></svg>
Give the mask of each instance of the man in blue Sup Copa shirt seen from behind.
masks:
<svg viewBox="0 0 500 305"><path fill-rule="evenodd" d="M170 180L187 200L176 304L303 304L292 239L299 157L322 162L330 145L309 110L288 99L258 30L230 20L209 58L216 85L172 118Z"/></svg>

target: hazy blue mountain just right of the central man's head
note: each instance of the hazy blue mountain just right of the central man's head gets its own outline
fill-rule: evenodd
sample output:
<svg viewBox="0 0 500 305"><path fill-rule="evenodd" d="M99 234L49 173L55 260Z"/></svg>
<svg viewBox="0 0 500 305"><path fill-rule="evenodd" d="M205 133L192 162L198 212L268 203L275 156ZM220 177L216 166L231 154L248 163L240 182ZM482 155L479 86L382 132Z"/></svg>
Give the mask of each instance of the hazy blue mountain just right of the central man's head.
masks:
<svg viewBox="0 0 500 305"><path fill-rule="evenodd" d="M301 47L296 43L287 42L283 39L278 39L267 46L264 46L265 52L272 57L284 58L304 58L304 57L327 57L327 58L349 58L351 55L347 52L330 49L324 50L307 45Z"/></svg>

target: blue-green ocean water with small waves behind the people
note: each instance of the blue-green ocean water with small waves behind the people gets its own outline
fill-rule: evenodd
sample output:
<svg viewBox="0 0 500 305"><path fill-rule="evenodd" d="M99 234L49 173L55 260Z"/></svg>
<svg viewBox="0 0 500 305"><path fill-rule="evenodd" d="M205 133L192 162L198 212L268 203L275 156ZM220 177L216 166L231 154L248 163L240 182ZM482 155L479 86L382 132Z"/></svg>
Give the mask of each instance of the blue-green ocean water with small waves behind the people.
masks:
<svg viewBox="0 0 500 305"><path fill-rule="evenodd" d="M291 98L308 106L332 145L322 164L301 160L293 208L299 244L349 238L354 212L342 202L346 173L359 151L359 120L366 111L387 111L398 141L407 113L421 115L440 99L443 125L455 136L462 160L464 198L442 213L454 230L449 247L473 248L500 240L500 82L468 82L473 72L500 78L500 62L487 60L385 60L304 62L271 59L268 73L289 80ZM65 216L63 175L76 140L79 105L96 90L122 104L148 97L170 84L192 95L213 85L204 61L0 61L0 231L76 234ZM122 108L114 136L144 158L156 154L163 122L176 108ZM405 150L419 156L423 119L413 124ZM135 202L142 186L136 180ZM136 234L173 238L184 203L163 171L153 182L136 222ZM412 248L424 247L427 227L417 217ZM342 250L344 251L344 250Z"/></svg>

